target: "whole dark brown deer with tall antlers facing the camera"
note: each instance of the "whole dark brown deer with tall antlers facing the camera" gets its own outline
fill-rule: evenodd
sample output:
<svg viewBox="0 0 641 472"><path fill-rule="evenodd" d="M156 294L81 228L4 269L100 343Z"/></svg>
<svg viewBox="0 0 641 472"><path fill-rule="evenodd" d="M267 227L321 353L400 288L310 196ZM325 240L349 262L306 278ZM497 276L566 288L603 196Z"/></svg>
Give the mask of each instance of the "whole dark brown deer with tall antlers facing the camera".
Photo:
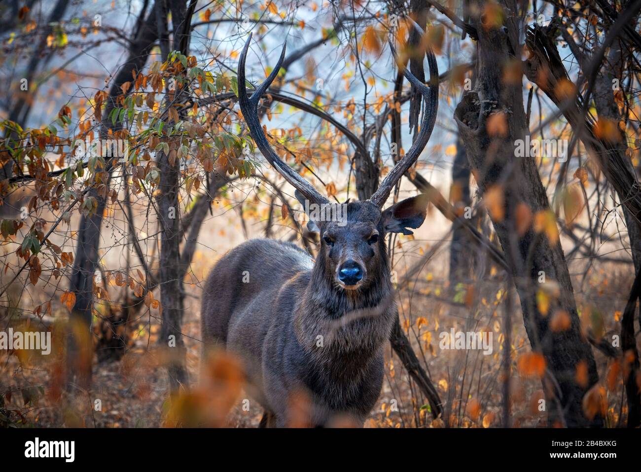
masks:
<svg viewBox="0 0 641 472"><path fill-rule="evenodd" d="M290 242L250 239L215 264L203 287L204 346L240 358L247 391L264 409L260 427L287 426L292 398L301 392L308 400L306 425L331 426L343 419L363 426L381 392L385 343L396 316L386 235L413 234L424 222L429 202L420 194L382 208L434 128L436 58L426 51L429 86L404 67L404 76L424 102L412 147L369 199L332 204L279 158L260 126L258 105L280 70L286 45L271 74L247 96L250 41L251 34L238 62L238 103L249 134L267 162L296 189L304 208L317 205L328 211L307 223L310 232L319 233L315 260ZM391 42L390 49L399 63ZM346 205L346 219L332 217L338 214L336 205Z"/></svg>

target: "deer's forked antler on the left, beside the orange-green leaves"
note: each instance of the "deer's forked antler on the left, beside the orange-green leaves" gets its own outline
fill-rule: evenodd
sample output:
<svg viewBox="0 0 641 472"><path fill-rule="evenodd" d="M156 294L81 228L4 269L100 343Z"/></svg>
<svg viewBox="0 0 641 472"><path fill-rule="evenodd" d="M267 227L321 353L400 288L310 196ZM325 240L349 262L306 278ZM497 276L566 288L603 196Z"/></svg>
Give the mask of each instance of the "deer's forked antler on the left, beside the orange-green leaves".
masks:
<svg viewBox="0 0 641 472"><path fill-rule="evenodd" d="M301 174L294 171L294 169L289 167L281 160L281 158L278 157L276 151L274 151L269 142L267 142L267 138L263 133L263 128L260 126L260 121L258 119L258 102L260 101L260 97L265 93L265 90L267 90L272 81L274 81L276 75L278 75L278 71L280 71L283 60L285 59L286 45L283 45L283 52L281 53L278 63L276 64L276 67L274 67L272 73L269 74L269 77L267 77L262 84L256 87L256 90L254 90L251 97L247 97L247 90L245 87L245 60L247 58L247 51L249 50L250 42L251 33L249 33L249 38L247 38L245 47L240 55L240 60L238 61L238 103L240 104L240 110L247 122L249 134L254 139L256 146L258 146L258 149L263 153L263 156L265 156L265 159L267 159L269 164L271 164L272 167L274 167L274 169L276 169L276 171L285 178L285 180L292 184L295 189L301 192L304 198L308 199L311 203L319 205L329 203L329 200L322 196L318 190L314 189L308 181L304 180Z"/></svg>

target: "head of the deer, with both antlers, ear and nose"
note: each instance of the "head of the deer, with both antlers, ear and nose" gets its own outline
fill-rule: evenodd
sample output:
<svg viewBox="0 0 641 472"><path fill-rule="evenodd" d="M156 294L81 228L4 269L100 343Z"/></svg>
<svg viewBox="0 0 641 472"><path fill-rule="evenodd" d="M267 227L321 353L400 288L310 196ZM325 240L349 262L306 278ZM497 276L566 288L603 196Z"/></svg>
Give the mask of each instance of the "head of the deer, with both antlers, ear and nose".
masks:
<svg viewBox="0 0 641 472"><path fill-rule="evenodd" d="M415 27L419 28L416 24ZM399 64L404 69L404 76L419 90L425 103L419 135L412 147L397 161L370 199L331 204L308 181L304 180L303 176L279 158L260 126L258 103L281 68L285 58L285 46L269 77L248 97L245 61L250 42L251 33L238 62L238 102L249 133L269 164L296 189L296 198L301 205L304 208L313 206L321 209L320 212L315 212L316 216L313 218L310 214L311 219L308 223L310 231L320 233L321 248L317 257L317 266L322 266L324 273L332 278L332 283L345 291L365 289L372 285L381 273L389 271L385 235L387 233L412 234L410 228L419 228L426 216L428 206L426 195L405 199L386 210L382 210L382 207L401 176L415 164L434 129L438 107L436 58L432 51L427 51L431 84L429 87L415 78L406 67ZM390 49L397 60L391 42Z"/></svg>

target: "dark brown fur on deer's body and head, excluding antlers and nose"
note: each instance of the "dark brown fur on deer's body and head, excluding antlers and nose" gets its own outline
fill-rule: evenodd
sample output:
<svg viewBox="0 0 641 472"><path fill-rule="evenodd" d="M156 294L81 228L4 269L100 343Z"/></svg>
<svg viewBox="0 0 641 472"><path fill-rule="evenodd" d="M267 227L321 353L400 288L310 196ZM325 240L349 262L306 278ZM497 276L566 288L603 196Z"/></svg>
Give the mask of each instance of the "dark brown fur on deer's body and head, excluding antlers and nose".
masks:
<svg viewBox="0 0 641 472"><path fill-rule="evenodd" d="M415 199L382 215L369 201L349 203L345 226L318 222L321 240L331 235L334 242L321 243L315 263L292 244L256 239L213 267L203 291L204 341L224 344L242 358L254 398L277 426L287 424L298 393L312 400L314 426L337 415L362 425L374 406L395 313L384 236L386 229L422 223L425 208L422 200L415 208ZM420 223L400 214L408 207ZM373 244L372 233L379 236ZM348 258L365 269L356 289L337 280L337 268Z"/></svg>

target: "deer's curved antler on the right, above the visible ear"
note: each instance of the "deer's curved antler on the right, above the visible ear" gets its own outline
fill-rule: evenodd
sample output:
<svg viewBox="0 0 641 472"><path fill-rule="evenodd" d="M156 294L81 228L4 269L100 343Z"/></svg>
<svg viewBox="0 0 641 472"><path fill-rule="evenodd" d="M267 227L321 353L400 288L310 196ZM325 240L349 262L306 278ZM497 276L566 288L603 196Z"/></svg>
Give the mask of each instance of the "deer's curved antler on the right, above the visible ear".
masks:
<svg viewBox="0 0 641 472"><path fill-rule="evenodd" d="M417 28L420 33L423 33L422 28L420 28L420 26L414 21L412 22L414 24L414 27ZM390 49L392 49L394 60L399 65L399 67L403 67L403 64L399 63L396 55L396 50L394 49L392 42L389 41L389 44ZM378 190L376 190L376 192L374 192L374 195L372 195L372 197L370 198L370 201L378 205L379 208L385 205L385 201L387 201L387 198L390 196L394 185L396 185L397 181L399 181L403 174L406 173L419 158L420 153L428 144L429 137L432 134L432 130L434 130L434 124L437 121L438 65L436 57L434 56L431 48L426 51L426 55L428 56L429 66L429 87L418 80L415 76L413 76L408 67L405 67L403 71L405 78L410 81L410 83L412 83L414 87L419 89L419 92L423 96L423 99L425 101L425 109L423 110L423 119L420 122L420 131L417 139L412 144L410 150L407 151L406 155L404 155L403 158L401 158L401 160L396 163L394 169L392 169L390 173L385 176L385 179L383 179L383 181L381 182Z"/></svg>

